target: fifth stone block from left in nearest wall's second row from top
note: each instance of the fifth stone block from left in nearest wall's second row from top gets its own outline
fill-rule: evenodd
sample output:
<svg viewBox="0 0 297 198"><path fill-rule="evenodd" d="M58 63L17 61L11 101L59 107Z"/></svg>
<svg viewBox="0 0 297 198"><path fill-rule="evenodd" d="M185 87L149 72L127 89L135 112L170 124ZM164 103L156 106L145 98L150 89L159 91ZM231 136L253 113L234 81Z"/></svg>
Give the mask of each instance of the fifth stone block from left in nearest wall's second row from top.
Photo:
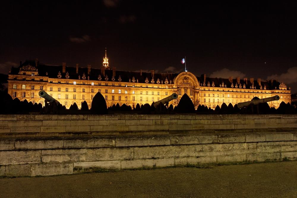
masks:
<svg viewBox="0 0 297 198"><path fill-rule="evenodd" d="M233 144L198 144L195 145L195 156L232 155Z"/></svg>

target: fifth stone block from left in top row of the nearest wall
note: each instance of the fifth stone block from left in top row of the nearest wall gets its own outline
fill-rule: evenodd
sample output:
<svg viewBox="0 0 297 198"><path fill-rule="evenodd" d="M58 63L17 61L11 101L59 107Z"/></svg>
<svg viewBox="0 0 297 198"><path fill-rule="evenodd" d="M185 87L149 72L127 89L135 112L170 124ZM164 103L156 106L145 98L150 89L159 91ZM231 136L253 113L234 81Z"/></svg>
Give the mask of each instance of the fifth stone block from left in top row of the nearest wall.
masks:
<svg viewBox="0 0 297 198"><path fill-rule="evenodd" d="M170 137L171 144L213 144L217 143L218 137L213 134L199 134L199 135L191 135L191 136L171 136Z"/></svg>

